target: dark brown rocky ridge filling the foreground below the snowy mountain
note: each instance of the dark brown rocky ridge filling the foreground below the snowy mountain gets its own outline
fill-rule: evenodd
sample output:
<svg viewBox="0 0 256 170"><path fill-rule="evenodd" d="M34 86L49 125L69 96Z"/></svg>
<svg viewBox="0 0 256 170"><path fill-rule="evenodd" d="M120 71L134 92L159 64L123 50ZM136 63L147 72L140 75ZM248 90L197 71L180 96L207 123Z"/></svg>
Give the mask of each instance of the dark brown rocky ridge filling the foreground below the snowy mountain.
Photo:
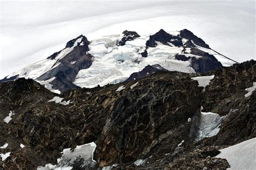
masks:
<svg viewBox="0 0 256 170"><path fill-rule="evenodd" d="M0 146L8 146L0 153L10 155L0 168L228 168L226 159L215 158L219 150L256 137L255 75L251 60L207 73L163 70L63 95L32 79L3 82ZM211 77L210 84L198 76ZM64 148L92 142L97 163L57 162Z"/></svg>

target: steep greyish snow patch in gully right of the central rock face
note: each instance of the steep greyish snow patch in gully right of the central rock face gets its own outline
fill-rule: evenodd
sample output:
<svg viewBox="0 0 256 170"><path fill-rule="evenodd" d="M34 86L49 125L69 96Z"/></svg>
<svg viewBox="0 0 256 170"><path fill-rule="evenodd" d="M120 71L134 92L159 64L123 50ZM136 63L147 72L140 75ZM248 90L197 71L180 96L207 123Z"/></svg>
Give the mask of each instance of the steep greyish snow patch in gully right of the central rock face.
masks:
<svg viewBox="0 0 256 170"><path fill-rule="evenodd" d="M201 112L198 137L196 141L209 138L218 134L220 125L226 116L219 116L212 112Z"/></svg>

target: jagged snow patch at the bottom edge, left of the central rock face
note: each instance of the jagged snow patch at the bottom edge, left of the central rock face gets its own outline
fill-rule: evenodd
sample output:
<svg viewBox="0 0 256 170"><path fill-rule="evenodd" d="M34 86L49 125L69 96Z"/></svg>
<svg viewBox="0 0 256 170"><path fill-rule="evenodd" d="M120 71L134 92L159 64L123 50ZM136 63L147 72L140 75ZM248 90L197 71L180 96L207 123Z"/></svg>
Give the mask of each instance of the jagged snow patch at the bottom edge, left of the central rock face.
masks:
<svg viewBox="0 0 256 170"><path fill-rule="evenodd" d="M46 164L44 167L39 166L37 170L49 170L49 169L72 169L70 165L75 164L77 159L84 158L84 167L88 164L94 165L96 161L93 160L93 153L96 149L94 142L77 146L73 151L71 148L65 148L62 152L62 157L57 159L58 164Z"/></svg>

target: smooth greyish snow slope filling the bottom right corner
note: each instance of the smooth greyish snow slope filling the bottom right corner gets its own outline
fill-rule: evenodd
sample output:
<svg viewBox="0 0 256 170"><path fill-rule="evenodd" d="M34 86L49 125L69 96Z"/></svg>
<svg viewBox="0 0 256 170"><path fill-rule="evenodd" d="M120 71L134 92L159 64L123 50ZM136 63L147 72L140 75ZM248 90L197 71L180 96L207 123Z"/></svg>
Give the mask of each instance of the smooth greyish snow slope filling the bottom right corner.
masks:
<svg viewBox="0 0 256 170"><path fill-rule="evenodd" d="M237 145L226 147L216 158L227 159L228 169L255 169L256 167L256 138L243 141Z"/></svg>

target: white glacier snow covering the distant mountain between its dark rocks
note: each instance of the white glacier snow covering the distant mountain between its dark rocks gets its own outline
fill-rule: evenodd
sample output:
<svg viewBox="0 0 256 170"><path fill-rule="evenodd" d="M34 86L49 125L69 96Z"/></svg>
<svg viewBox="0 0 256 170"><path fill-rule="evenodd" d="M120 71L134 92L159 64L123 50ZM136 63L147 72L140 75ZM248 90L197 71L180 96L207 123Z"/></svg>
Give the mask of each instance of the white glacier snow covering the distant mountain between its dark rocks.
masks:
<svg viewBox="0 0 256 170"><path fill-rule="evenodd" d="M168 33L177 36L179 31ZM184 48L183 46L176 47L171 43L164 45L158 41L156 41L156 47L146 49L146 41L149 40L152 34L140 35L140 37L134 40L126 41L124 46L118 45L118 42L123 38L124 34L112 34L91 40L89 44L90 51L88 53L93 55L92 65L89 68L80 69L73 83L82 88L93 88L98 85L105 86L108 83L116 84L125 81L132 73L139 72L146 66L155 64L159 64L169 71L195 73L194 69L191 67L190 61L176 60L175 56L177 54L194 56L196 58L201 58L201 56L190 54L191 48ZM187 39L184 38L181 40L184 43L187 41ZM82 38L78 38L72 47L62 49L55 59L45 59L36 62L18 72L10 74L8 78L18 75L18 77L25 77L26 79L35 79L53 93L60 94L59 89L52 88L53 85L51 82L56 79L55 77L51 77L45 81L37 80L37 78L60 65L59 60L69 54L81 41ZM220 62L223 63L224 66L231 66L234 63L214 52L212 49L200 46L197 46L197 48L213 54L217 59L220 59ZM147 50L146 58L140 54L144 52L145 49ZM70 61L71 65L75 63L76 61ZM199 86L205 87L212 78L213 76L205 76L194 77L193 79L199 81Z"/></svg>

